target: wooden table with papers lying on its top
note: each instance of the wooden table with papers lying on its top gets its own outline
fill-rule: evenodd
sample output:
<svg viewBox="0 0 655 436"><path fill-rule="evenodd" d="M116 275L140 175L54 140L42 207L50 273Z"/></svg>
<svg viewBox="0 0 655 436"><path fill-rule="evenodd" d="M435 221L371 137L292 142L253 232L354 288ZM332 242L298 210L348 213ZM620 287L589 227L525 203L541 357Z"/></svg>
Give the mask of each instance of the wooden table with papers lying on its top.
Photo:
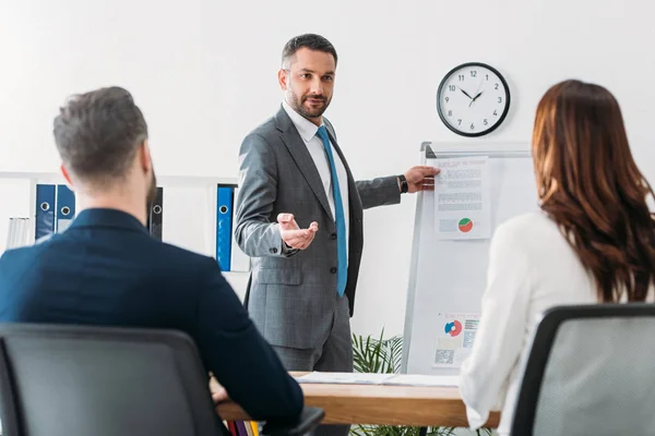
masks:
<svg viewBox="0 0 655 436"><path fill-rule="evenodd" d="M294 376L305 373L291 373ZM466 427L466 409L455 387L300 384L305 404L325 411L325 424ZM216 408L222 419L250 420L231 401ZM488 427L497 427L493 413Z"/></svg>

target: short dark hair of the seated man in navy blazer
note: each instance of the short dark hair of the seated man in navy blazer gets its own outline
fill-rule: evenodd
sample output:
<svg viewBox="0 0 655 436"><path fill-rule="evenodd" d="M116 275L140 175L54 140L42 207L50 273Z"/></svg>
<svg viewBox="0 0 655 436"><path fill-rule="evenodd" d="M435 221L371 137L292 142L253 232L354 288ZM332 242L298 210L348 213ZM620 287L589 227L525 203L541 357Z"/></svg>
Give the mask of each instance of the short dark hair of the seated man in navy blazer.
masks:
<svg viewBox="0 0 655 436"><path fill-rule="evenodd" d="M72 96L55 119L55 143L66 168L84 181L122 179L147 124L132 96L107 87Z"/></svg>

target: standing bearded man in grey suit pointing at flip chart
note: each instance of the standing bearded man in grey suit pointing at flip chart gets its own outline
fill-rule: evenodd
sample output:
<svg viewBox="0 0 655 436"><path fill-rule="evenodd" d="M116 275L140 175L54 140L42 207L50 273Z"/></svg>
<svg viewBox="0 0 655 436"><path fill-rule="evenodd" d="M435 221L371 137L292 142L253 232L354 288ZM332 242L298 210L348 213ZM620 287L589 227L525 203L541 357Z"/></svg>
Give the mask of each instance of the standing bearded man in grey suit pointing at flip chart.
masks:
<svg viewBox="0 0 655 436"><path fill-rule="evenodd" d="M432 167L355 182L332 124L337 56L319 35L289 40L282 108L240 149L235 237L253 257L247 302L288 371L352 372L349 317L364 245L364 209L433 186ZM300 226L307 226L300 228ZM349 426L317 434L347 434Z"/></svg>

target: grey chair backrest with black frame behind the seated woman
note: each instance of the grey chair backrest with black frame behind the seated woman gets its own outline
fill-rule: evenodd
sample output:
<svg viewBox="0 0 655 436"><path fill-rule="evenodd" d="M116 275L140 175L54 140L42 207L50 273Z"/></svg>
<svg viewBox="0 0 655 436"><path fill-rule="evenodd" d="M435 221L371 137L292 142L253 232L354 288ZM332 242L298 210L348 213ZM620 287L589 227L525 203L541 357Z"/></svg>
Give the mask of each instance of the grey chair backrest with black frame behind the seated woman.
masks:
<svg viewBox="0 0 655 436"><path fill-rule="evenodd" d="M512 435L655 433L655 305L546 312L523 363Z"/></svg>

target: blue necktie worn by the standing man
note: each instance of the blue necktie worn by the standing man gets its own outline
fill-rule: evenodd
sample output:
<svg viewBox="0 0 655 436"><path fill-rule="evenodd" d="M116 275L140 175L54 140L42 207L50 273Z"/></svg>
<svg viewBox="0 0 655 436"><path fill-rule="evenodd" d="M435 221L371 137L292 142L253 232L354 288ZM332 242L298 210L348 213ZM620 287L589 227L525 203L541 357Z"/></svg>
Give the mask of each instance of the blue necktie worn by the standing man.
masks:
<svg viewBox="0 0 655 436"><path fill-rule="evenodd" d="M327 137L327 131L324 125L319 128L317 132L323 141L323 147L330 160L330 170L332 172L332 192L334 194L334 223L336 225L336 291L340 296L344 296L346 282L348 281L348 261L347 261L347 242L346 242L346 217L344 215L344 203L342 202L341 189L338 185L338 177L336 175L336 165L332 155L332 146Z"/></svg>

